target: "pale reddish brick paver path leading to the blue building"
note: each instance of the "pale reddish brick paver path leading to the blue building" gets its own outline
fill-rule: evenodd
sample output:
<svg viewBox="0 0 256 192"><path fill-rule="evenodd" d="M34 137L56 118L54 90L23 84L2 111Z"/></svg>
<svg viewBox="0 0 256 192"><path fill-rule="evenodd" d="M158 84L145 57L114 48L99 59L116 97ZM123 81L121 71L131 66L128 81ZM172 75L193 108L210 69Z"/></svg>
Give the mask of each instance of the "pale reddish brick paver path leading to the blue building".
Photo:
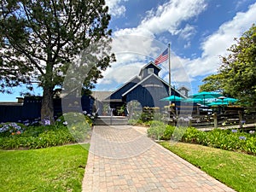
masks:
<svg viewBox="0 0 256 192"><path fill-rule="evenodd" d="M154 143L143 129L94 128L83 192L235 191Z"/></svg>

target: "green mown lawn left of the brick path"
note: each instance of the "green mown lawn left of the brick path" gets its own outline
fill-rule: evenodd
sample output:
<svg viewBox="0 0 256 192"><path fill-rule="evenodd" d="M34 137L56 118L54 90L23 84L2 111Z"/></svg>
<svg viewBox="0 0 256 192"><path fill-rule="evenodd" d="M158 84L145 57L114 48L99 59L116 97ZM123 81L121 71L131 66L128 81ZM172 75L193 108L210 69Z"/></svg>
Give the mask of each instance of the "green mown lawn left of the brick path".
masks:
<svg viewBox="0 0 256 192"><path fill-rule="evenodd" d="M89 144L0 150L0 191L81 191Z"/></svg>

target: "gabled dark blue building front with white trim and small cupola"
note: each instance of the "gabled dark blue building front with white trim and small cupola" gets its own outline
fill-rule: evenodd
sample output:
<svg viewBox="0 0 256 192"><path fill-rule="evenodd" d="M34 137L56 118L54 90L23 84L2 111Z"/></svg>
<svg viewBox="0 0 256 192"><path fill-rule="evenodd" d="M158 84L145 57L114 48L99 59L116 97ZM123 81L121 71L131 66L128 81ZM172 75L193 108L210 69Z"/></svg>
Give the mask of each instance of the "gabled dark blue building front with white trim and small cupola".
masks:
<svg viewBox="0 0 256 192"><path fill-rule="evenodd" d="M160 79L161 68L149 62L145 65L139 75L133 77L130 81L123 84L118 90L108 96L104 102L110 104L110 108L118 109L128 102L137 101L142 107L164 108L168 102L162 102L160 99L169 96L169 84ZM172 95L183 96L179 91L172 90Z"/></svg>

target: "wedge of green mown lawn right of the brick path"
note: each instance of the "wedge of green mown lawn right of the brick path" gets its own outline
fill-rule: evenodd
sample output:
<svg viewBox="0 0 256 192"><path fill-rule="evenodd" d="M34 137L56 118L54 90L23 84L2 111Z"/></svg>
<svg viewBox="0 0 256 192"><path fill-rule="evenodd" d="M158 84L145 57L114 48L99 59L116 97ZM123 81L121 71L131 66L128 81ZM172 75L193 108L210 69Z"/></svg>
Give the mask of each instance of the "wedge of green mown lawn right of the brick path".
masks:
<svg viewBox="0 0 256 192"><path fill-rule="evenodd" d="M236 191L256 191L256 156L189 143L160 144Z"/></svg>

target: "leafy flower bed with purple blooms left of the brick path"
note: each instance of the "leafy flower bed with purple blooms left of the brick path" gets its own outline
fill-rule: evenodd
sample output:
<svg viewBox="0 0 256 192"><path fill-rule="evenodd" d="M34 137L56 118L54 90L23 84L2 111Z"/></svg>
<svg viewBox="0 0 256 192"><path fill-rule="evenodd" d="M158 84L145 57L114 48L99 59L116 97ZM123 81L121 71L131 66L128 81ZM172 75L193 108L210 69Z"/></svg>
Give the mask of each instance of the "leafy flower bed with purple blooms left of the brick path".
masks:
<svg viewBox="0 0 256 192"><path fill-rule="evenodd" d="M0 149L47 148L84 142L90 137L92 121L88 115L67 113L66 116L56 119L55 125L49 125L45 120L41 124L4 123L0 125Z"/></svg>

